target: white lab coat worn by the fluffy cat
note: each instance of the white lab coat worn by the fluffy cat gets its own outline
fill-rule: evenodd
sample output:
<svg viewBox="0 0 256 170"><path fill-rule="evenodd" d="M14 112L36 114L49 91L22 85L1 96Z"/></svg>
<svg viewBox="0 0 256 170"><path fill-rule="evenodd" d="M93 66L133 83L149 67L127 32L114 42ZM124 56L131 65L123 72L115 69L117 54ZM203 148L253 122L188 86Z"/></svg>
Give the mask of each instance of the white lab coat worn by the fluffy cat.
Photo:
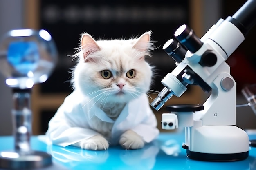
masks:
<svg viewBox="0 0 256 170"><path fill-rule="evenodd" d="M90 127L90 119L97 116L102 121L114 123L110 145L118 144L119 137L126 130L133 130L145 142L156 139L159 134L157 121L148 104L148 97L142 95L126 104L116 121L110 119L103 110L88 102L89 99L75 90L67 96L56 114L49 121L46 132L48 144L60 146L72 145L99 134Z"/></svg>

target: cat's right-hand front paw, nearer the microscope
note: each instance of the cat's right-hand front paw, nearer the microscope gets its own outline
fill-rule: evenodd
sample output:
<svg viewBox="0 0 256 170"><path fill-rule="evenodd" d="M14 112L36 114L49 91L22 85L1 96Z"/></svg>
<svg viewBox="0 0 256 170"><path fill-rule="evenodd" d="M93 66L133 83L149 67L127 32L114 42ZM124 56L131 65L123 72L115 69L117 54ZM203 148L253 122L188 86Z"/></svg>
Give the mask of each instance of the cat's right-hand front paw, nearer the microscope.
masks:
<svg viewBox="0 0 256 170"><path fill-rule="evenodd" d="M121 135L119 144L125 149L140 149L144 147L142 137L132 130L127 130Z"/></svg>

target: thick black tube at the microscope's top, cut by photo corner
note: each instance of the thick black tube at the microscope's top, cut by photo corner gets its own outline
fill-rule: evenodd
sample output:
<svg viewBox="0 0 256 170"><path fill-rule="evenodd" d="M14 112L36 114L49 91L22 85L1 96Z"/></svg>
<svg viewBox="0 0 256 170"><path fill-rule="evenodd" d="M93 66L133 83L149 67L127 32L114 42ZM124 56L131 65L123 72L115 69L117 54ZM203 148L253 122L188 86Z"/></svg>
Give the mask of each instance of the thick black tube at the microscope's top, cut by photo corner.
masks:
<svg viewBox="0 0 256 170"><path fill-rule="evenodd" d="M246 35L256 24L256 0L248 0L238 11L227 20L237 26L237 28Z"/></svg>

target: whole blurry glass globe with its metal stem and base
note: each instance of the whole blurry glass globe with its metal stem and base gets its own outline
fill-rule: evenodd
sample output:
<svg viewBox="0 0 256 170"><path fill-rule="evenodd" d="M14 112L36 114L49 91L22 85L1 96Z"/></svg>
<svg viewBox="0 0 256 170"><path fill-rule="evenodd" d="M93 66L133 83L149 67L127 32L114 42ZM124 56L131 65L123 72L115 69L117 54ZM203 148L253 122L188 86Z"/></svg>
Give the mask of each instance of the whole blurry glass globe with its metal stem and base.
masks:
<svg viewBox="0 0 256 170"><path fill-rule="evenodd" d="M34 169L52 164L51 155L30 148L30 94L34 84L47 80L58 59L51 35L45 30L16 29L0 41L0 71L13 89L14 151L0 152L0 168Z"/></svg>

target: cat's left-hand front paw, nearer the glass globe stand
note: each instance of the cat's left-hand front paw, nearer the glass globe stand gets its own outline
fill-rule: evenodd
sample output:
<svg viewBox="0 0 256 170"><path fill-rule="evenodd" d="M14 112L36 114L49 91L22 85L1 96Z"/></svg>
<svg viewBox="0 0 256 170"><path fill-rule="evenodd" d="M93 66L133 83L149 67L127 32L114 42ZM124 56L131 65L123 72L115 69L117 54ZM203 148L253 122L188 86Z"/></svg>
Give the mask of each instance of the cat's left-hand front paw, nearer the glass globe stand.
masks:
<svg viewBox="0 0 256 170"><path fill-rule="evenodd" d="M80 148L86 150L107 150L109 144L108 141L101 135L95 135L89 139L76 143L75 146L79 146Z"/></svg>

